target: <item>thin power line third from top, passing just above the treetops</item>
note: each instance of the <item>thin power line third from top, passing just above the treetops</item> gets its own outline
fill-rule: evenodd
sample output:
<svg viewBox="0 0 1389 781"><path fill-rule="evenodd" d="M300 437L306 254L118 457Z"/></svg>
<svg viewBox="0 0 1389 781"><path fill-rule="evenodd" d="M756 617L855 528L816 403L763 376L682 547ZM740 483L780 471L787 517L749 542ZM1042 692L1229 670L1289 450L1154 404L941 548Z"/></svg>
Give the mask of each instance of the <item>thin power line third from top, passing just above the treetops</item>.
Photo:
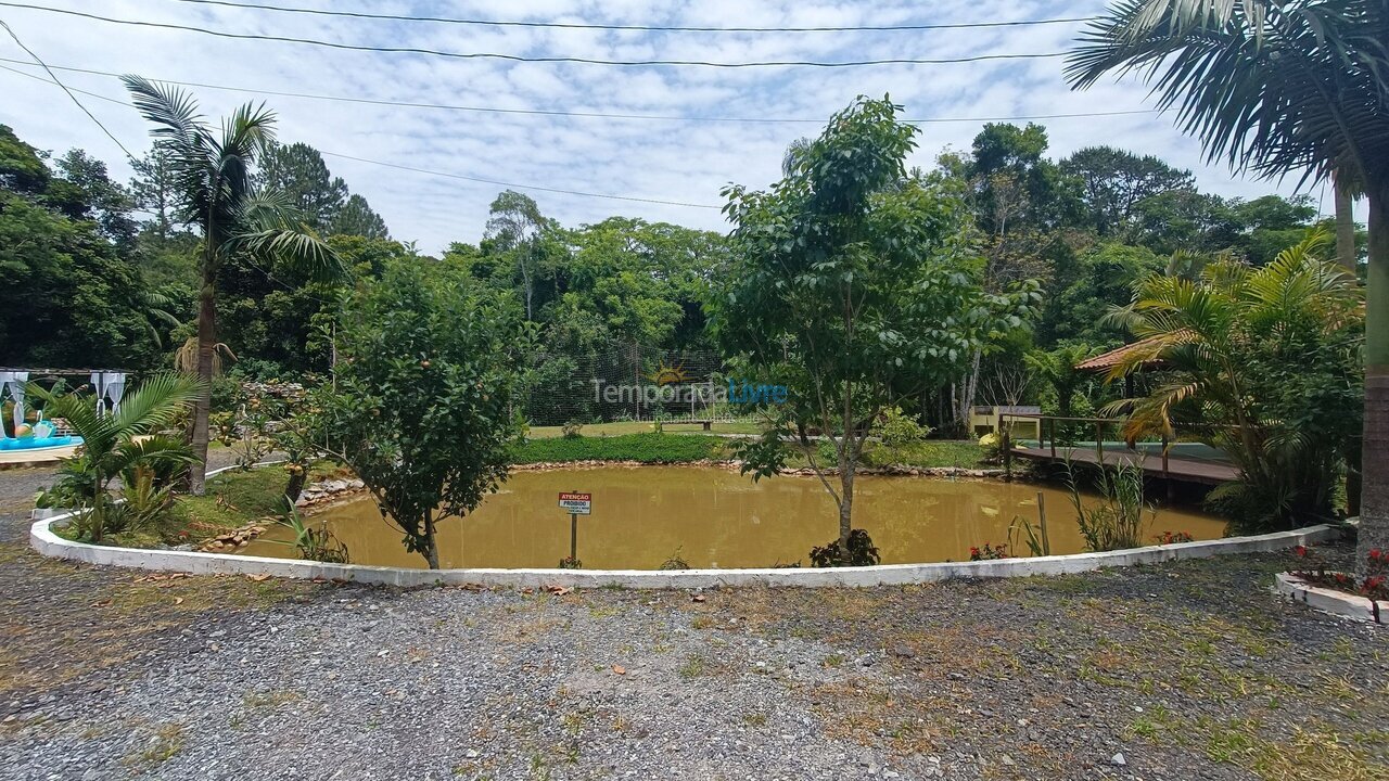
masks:
<svg viewBox="0 0 1389 781"><path fill-rule="evenodd" d="M0 63L15 63L21 65L28 65L22 60L8 60L0 57ZM114 74L111 71L96 71L92 68L65 68L61 65L53 65L58 71L69 71L75 74L90 74L97 76L111 76L119 78L121 74ZM18 72L18 71L15 71ZM411 103L403 100L378 100L369 97L347 97L340 94L314 94L306 92L279 92L271 89L254 89L244 86L225 86L214 83L200 83L200 82L183 82L175 79L154 79L164 83L172 83L179 86L199 88L199 89L219 89L226 92L244 92L249 94L271 94L276 97L299 97L307 100L329 100L336 103L357 103L365 106L396 106L401 108L433 108L443 111L475 111L482 114L519 114L519 115L540 115L540 117L581 117L581 118L601 118L601 120L653 120L665 122L743 122L743 124L825 124L824 118L778 118L778 117L676 117L676 115L660 115L660 114L613 114L603 111L558 111L558 110L542 110L542 108L496 108L488 106L456 106L447 103ZM1126 114L1154 114L1156 108L1135 108L1125 111L1078 111L1078 113L1061 113L1061 114L1020 114L1011 117L922 117L915 120L903 120L908 125L929 125L929 124L943 124L943 122L1011 122L1022 120L1068 120L1078 117L1121 117Z"/></svg>

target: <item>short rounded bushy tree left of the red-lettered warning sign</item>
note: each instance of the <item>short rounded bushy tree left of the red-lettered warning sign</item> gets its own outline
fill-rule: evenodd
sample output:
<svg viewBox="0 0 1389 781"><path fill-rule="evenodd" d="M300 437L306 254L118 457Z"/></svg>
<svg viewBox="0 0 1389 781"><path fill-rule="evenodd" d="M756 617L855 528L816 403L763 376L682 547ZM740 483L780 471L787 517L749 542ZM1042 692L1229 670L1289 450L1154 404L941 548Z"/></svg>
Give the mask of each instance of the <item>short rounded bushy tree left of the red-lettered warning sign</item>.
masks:
<svg viewBox="0 0 1389 781"><path fill-rule="evenodd" d="M431 568L439 524L507 477L518 334L510 296L419 258L392 261L343 315L336 392L321 400L329 450Z"/></svg>

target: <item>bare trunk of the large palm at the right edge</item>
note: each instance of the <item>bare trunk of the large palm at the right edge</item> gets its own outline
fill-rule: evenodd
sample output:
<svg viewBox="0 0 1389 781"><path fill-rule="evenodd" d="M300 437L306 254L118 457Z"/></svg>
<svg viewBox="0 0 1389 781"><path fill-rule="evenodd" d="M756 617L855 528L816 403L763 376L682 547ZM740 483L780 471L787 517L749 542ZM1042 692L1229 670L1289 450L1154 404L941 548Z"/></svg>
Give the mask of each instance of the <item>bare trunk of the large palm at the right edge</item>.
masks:
<svg viewBox="0 0 1389 781"><path fill-rule="evenodd" d="M1356 571L1361 575L1372 549L1389 550L1389 185L1370 192L1363 447L1364 485L1356 550Z"/></svg>

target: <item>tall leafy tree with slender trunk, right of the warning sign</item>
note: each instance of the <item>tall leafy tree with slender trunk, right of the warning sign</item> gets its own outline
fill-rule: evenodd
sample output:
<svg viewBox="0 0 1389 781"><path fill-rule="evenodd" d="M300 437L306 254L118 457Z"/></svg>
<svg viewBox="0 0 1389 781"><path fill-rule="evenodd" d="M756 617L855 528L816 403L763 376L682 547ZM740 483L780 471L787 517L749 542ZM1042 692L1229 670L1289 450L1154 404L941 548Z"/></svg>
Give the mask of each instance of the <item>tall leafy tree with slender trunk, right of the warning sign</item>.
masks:
<svg viewBox="0 0 1389 781"><path fill-rule="evenodd" d="M732 260L711 303L720 343L750 379L796 399L768 404L774 425L745 450L745 472L775 474L782 429L818 427L833 442L838 488L815 449L804 453L839 507L845 554L871 422L1021 327L1028 297L981 289L958 203L907 178L917 129L897 110L858 99L770 190L726 190Z"/></svg>

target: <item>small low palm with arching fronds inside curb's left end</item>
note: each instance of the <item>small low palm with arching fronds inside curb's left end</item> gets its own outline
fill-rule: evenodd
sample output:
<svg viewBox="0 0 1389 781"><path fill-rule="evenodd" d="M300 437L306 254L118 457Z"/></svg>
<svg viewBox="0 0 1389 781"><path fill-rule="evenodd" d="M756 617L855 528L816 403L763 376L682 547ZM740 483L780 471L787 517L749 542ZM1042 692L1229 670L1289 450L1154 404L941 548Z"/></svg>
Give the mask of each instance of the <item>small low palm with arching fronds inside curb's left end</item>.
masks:
<svg viewBox="0 0 1389 781"><path fill-rule="evenodd" d="M92 542L101 542L113 513L108 488L114 478L194 461L182 439L165 436L160 429L174 422L200 390L192 377L160 374L121 399L119 411L100 414L88 396L29 386L29 393L44 402L46 416L64 418L82 436L78 456L63 466L61 481L68 482L69 493L76 498L82 511L79 524Z"/></svg>

